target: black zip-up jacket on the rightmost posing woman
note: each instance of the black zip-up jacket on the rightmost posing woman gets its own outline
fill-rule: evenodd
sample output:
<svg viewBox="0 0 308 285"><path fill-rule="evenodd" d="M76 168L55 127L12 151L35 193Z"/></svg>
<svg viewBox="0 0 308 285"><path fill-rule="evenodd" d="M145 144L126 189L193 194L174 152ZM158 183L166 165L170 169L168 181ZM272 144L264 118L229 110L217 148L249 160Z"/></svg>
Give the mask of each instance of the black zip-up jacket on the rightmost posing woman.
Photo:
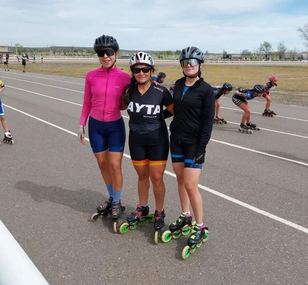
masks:
<svg viewBox="0 0 308 285"><path fill-rule="evenodd" d="M175 82L174 118L170 124L170 139L197 144L197 152L205 153L215 114L213 88L200 78L182 96L184 84L185 77Z"/></svg>

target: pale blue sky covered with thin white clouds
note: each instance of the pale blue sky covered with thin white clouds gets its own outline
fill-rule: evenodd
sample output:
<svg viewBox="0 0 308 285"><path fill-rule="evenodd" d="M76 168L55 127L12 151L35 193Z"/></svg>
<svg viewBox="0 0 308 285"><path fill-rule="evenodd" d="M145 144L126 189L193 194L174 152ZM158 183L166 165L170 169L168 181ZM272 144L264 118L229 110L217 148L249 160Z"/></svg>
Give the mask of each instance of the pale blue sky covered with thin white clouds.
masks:
<svg viewBox="0 0 308 285"><path fill-rule="evenodd" d="M15 0L3 8L0 44L26 47L90 47L109 34L120 49L237 53L266 40L301 50L296 29L308 22L307 0Z"/></svg>

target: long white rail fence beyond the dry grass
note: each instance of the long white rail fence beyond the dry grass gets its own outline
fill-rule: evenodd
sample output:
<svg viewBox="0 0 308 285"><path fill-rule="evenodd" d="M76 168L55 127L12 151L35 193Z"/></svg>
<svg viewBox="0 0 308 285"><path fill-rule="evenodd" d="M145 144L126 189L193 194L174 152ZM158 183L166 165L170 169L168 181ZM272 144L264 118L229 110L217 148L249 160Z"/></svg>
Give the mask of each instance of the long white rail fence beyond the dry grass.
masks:
<svg viewBox="0 0 308 285"><path fill-rule="evenodd" d="M16 55L11 55L10 60L18 60ZM19 56L19 60L21 60L21 56ZM33 56L29 56L29 60L33 60ZM36 56L35 60L40 61L41 57ZM128 62L129 57L119 57L118 61ZM86 62L86 61L98 61L97 56L52 56L52 55L44 55L43 61L78 61L78 62ZM154 58L155 62L178 62L178 58L174 59L162 59L162 58ZM264 64L273 64L273 63L307 63L308 59L306 60L236 60L236 59L204 59L204 63L264 63Z"/></svg>

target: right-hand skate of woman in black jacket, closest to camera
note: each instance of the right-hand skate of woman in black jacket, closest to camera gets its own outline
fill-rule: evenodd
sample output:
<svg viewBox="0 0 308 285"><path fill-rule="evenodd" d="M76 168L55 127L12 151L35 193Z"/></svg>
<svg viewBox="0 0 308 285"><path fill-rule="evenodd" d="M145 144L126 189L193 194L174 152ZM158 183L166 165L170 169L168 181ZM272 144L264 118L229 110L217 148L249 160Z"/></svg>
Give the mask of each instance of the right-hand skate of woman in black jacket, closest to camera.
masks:
<svg viewBox="0 0 308 285"><path fill-rule="evenodd" d="M190 253L194 253L196 248L199 248L203 242L206 242L209 238L209 229L206 226L198 227L194 225L191 230L191 235L187 240L187 246L183 248L182 259L189 257Z"/></svg>

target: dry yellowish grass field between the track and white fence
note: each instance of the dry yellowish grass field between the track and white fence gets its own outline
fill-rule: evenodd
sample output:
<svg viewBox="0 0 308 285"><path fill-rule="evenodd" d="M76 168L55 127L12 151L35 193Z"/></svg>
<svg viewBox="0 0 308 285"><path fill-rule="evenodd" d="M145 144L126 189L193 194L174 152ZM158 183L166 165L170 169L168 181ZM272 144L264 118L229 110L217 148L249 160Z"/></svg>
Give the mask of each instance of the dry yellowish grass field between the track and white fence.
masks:
<svg viewBox="0 0 308 285"><path fill-rule="evenodd" d="M63 63L27 63L26 70L40 73L66 75L83 78L89 70L98 68L97 64L63 64ZM129 72L128 65L118 67ZM21 70L20 65L10 65L10 69ZM157 72L167 74L165 86L169 87L182 77L180 66L157 66ZM291 105L308 106L308 65L202 65L202 77L211 85L231 83L234 87L252 87L254 84L265 84L268 76L278 76L278 87L272 93L273 102ZM230 96L230 95L229 95Z"/></svg>

